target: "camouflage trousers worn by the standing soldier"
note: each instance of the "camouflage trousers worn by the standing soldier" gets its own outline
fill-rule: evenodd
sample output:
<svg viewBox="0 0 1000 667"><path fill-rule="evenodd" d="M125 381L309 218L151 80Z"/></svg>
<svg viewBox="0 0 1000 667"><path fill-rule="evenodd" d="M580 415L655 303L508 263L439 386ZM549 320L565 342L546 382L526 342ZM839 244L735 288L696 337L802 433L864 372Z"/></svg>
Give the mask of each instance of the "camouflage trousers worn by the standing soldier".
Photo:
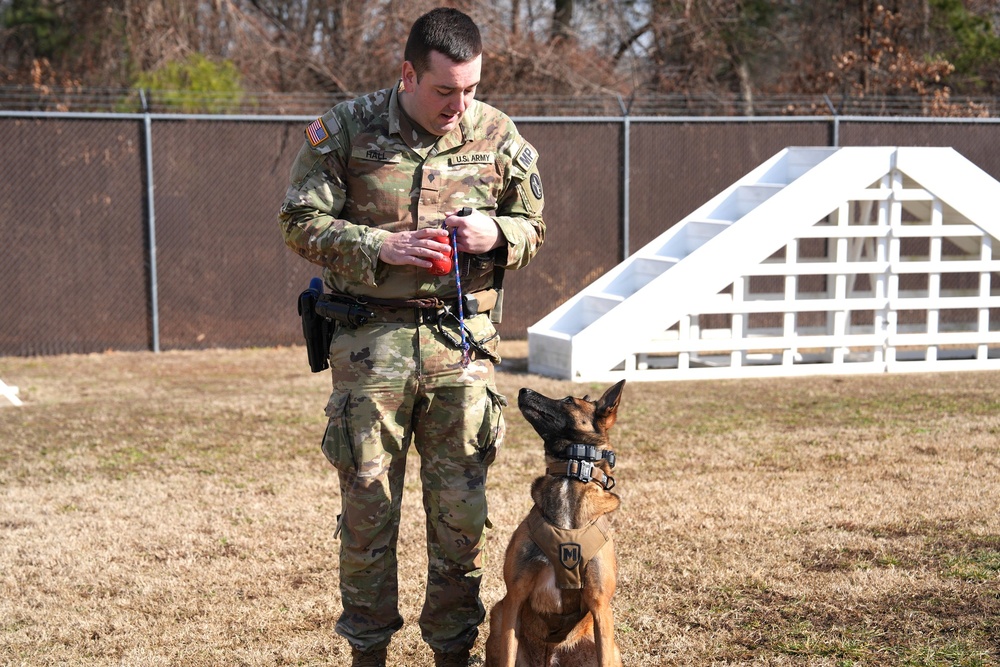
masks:
<svg viewBox="0 0 1000 667"><path fill-rule="evenodd" d="M487 315L467 324L477 339L495 333ZM435 650L471 647L485 618L486 472L504 435L506 400L493 363L474 355L463 367L461 352L434 326L370 324L337 333L330 366L323 453L340 478L344 611L337 632L368 650L388 645L403 624L396 542L412 442L427 522L420 629Z"/></svg>

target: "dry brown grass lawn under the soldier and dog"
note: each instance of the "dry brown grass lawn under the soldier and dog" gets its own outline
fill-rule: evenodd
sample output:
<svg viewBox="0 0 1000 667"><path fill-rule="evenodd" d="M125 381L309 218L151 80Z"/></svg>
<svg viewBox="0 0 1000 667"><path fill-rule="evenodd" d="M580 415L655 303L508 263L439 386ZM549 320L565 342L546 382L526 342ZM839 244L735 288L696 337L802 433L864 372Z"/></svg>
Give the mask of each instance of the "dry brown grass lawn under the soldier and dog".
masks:
<svg viewBox="0 0 1000 667"><path fill-rule="evenodd" d="M505 349L512 403L604 388ZM5 358L0 377L26 402L0 406L0 662L345 664L329 379L302 348ZM490 605L542 464L508 424ZM633 384L614 435L626 664L998 664L1000 374ZM390 658L422 666L408 479Z"/></svg>

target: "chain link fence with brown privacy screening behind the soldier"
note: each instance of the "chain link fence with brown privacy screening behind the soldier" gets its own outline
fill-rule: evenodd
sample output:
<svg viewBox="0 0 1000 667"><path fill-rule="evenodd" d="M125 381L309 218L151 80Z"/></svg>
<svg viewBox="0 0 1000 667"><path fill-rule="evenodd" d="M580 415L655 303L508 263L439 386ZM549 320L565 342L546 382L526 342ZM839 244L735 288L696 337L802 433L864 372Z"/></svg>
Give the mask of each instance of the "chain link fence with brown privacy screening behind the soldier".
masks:
<svg viewBox="0 0 1000 667"><path fill-rule="evenodd" d="M0 355L300 343L319 268L277 209L314 117L0 111ZM953 146L1000 177L992 119L515 120L548 233L507 274L508 339L786 146Z"/></svg>

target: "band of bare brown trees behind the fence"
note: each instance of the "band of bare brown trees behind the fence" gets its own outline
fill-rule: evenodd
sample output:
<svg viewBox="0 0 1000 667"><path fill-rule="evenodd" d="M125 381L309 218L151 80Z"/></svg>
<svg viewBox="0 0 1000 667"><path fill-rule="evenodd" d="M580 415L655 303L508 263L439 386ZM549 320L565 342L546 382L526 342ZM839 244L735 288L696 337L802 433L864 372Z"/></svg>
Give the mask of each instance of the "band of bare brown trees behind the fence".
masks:
<svg viewBox="0 0 1000 667"><path fill-rule="evenodd" d="M447 2L448 0L444 0ZM247 90L359 93L399 75L435 0L0 0L0 81L128 87L191 54ZM450 0L495 95L922 95L1000 88L995 0ZM956 70L957 68L957 70ZM735 111L735 109L734 109Z"/></svg>

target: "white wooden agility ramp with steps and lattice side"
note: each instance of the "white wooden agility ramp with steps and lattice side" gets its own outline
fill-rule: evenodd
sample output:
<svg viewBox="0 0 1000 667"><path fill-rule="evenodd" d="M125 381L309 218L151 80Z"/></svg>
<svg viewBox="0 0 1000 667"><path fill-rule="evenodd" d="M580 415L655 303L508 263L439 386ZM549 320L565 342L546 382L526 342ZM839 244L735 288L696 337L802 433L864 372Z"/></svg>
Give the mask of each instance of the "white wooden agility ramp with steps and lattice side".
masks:
<svg viewBox="0 0 1000 667"><path fill-rule="evenodd" d="M951 148L786 148L528 327L529 370L1000 369L998 201Z"/></svg>

